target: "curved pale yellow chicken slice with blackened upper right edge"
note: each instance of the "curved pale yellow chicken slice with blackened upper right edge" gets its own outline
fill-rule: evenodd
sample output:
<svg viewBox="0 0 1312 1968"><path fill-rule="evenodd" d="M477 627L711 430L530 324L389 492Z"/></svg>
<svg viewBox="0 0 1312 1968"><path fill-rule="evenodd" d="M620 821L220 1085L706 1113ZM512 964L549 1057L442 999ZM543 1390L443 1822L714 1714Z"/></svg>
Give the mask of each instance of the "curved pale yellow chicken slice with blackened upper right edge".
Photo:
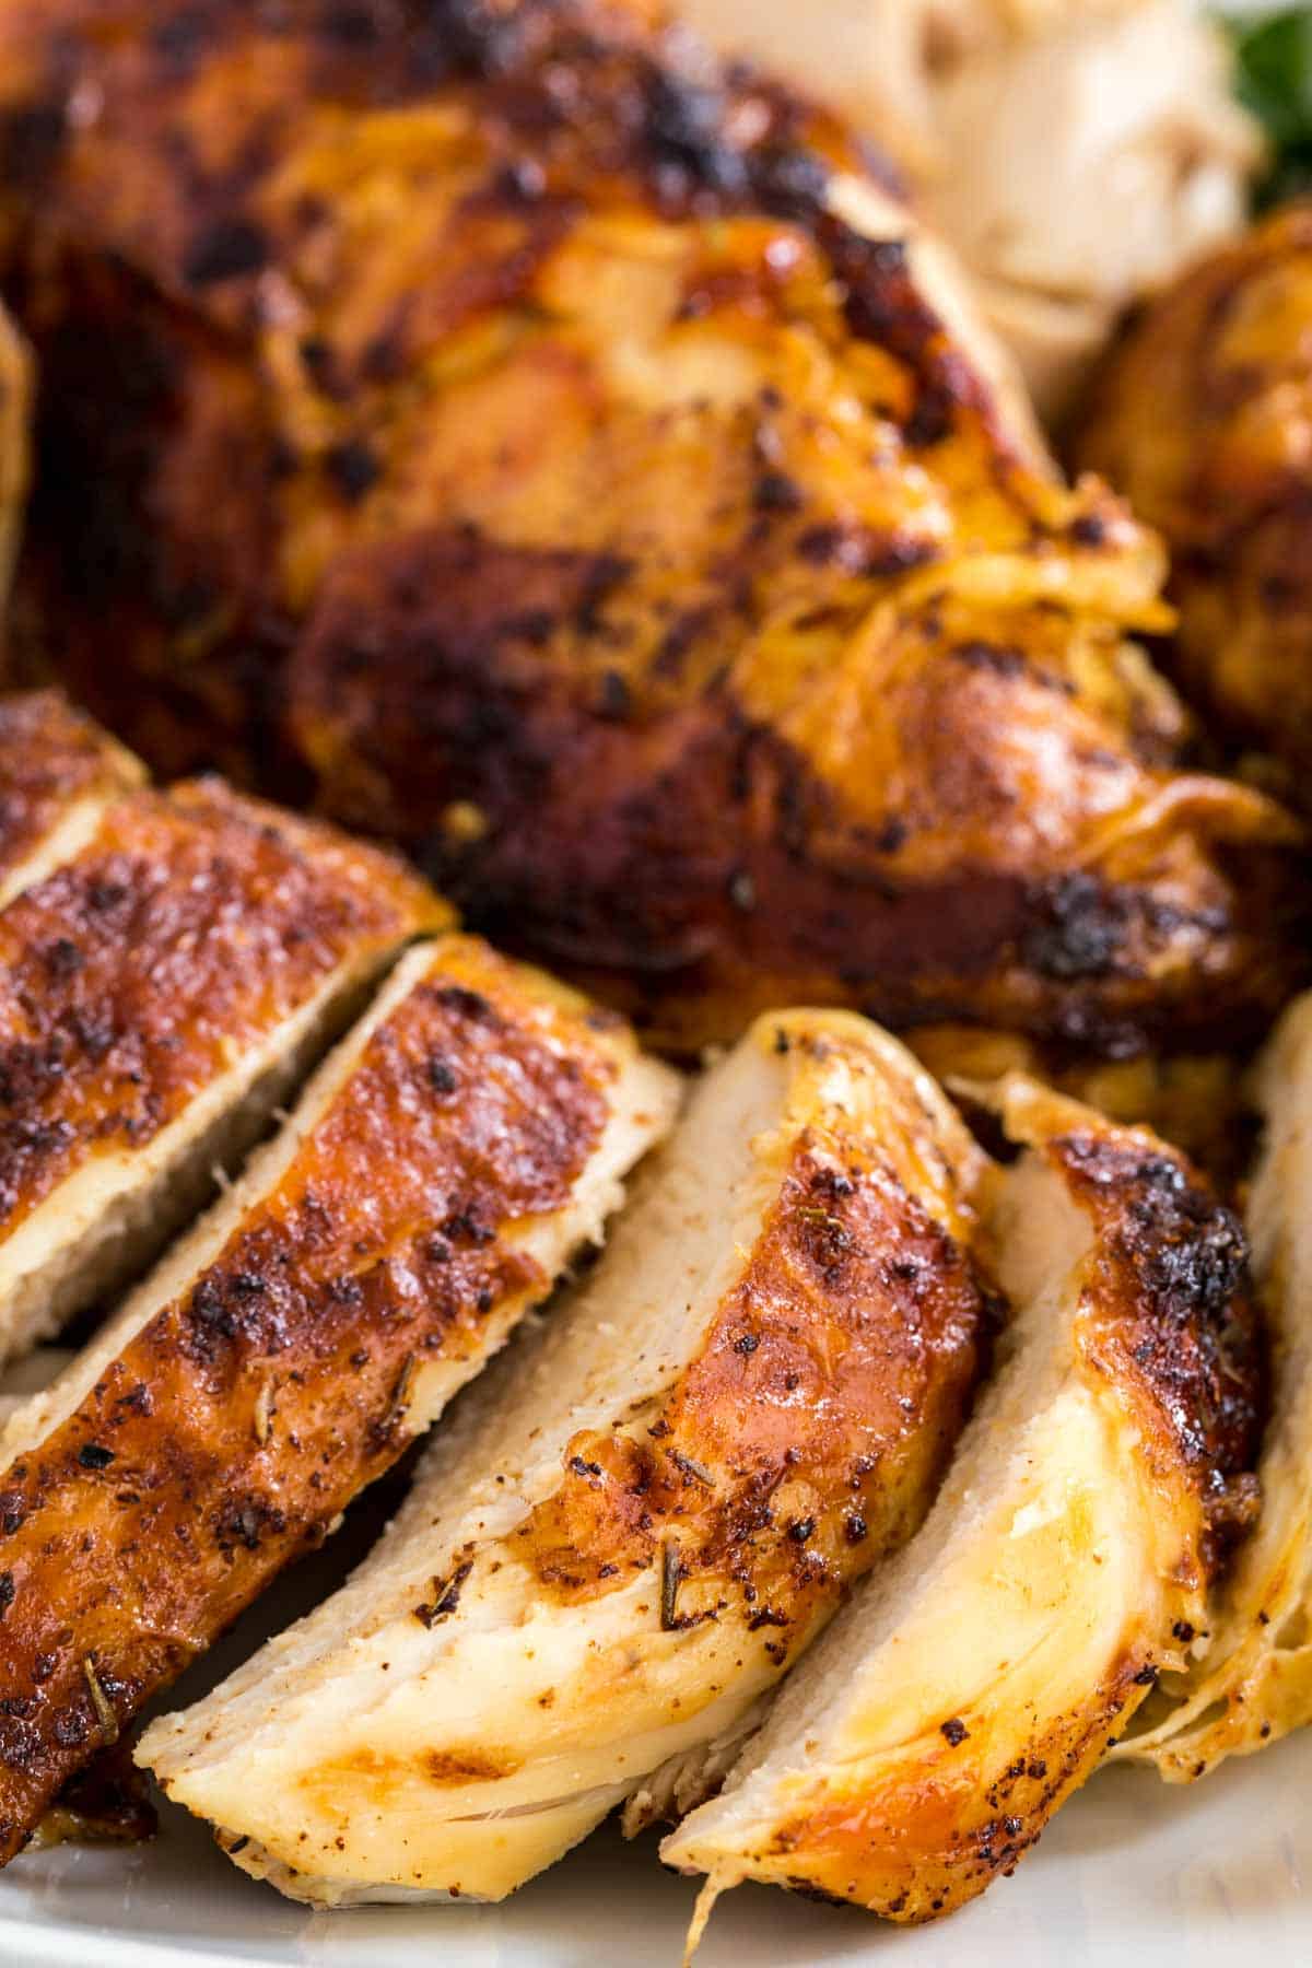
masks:
<svg viewBox="0 0 1312 1968"><path fill-rule="evenodd" d="M1147 1130L1003 1086L999 1376L921 1535L663 1846L708 1876L700 1919L740 1879L897 1921L962 1905L1206 1624L1255 1446L1243 1234Z"/></svg>

